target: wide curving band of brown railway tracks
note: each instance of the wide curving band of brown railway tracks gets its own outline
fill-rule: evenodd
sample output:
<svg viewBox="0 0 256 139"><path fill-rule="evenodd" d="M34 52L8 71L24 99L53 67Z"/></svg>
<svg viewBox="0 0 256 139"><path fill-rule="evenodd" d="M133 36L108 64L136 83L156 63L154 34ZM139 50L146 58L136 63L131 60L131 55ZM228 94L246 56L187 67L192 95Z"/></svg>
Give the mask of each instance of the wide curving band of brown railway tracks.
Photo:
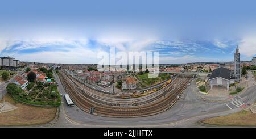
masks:
<svg viewBox="0 0 256 139"><path fill-rule="evenodd" d="M85 112L90 112L91 107L96 107L94 114L108 117L141 117L154 115L166 111L178 99L187 86L190 78L177 78L171 85L159 90L156 95L148 96L147 99L123 101L117 99L102 98L102 95L93 94L95 90L86 90L81 83L74 81L72 77L63 71L59 74L61 83L71 96L75 104ZM90 92L92 91L92 92Z"/></svg>

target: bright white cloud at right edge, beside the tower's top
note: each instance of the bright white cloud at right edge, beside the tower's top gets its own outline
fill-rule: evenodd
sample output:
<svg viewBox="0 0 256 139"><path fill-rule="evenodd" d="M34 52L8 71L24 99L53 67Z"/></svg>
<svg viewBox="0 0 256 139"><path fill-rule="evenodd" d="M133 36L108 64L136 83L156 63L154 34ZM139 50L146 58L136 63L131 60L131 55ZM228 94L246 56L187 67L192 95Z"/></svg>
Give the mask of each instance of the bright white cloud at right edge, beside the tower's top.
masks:
<svg viewBox="0 0 256 139"><path fill-rule="evenodd" d="M241 54L247 57L254 56L256 54L256 36L245 37L238 47Z"/></svg>

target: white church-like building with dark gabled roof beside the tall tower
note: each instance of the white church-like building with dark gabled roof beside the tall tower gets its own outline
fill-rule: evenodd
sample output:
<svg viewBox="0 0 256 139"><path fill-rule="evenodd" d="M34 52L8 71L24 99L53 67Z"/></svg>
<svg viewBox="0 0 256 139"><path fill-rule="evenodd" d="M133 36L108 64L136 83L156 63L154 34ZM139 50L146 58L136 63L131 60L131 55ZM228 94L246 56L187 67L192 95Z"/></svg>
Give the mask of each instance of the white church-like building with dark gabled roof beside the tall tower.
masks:
<svg viewBox="0 0 256 139"><path fill-rule="evenodd" d="M229 85L234 82L230 79L231 70L220 67L212 71L212 74L209 78L209 85L212 89L213 86L226 86L226 89L229 90Z"/></svg>

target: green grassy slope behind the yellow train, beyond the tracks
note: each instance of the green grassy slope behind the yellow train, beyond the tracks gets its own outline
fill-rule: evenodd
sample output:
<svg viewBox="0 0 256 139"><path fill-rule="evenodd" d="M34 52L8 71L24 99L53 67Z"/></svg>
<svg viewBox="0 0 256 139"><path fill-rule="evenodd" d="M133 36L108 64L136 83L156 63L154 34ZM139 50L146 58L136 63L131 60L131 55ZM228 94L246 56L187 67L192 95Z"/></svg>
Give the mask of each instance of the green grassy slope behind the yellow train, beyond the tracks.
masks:
<svg viewBox="0 0 256 139"><path fill-rule="evenodd" d="M165 73L160 73L156 78L148 78L148 73L143 73L142 75L137 75L137 78L146 86L154 85L155 83L164 81L169 78L170 75Z"/></svg>

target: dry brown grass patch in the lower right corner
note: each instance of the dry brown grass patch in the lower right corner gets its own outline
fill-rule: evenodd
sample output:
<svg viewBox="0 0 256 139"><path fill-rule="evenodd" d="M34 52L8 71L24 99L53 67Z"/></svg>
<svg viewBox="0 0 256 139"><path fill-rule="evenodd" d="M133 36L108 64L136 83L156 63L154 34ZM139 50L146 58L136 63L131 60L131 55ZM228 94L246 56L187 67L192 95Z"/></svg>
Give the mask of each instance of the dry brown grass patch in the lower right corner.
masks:
<svg viewBox="0 0 256 139"><path fill-rule="evenodd" d="M205 124L213 125L236 125L236 126L256 126L256 114L251 111L241 111L226 116L218 116L201 121Z"/></svg>

